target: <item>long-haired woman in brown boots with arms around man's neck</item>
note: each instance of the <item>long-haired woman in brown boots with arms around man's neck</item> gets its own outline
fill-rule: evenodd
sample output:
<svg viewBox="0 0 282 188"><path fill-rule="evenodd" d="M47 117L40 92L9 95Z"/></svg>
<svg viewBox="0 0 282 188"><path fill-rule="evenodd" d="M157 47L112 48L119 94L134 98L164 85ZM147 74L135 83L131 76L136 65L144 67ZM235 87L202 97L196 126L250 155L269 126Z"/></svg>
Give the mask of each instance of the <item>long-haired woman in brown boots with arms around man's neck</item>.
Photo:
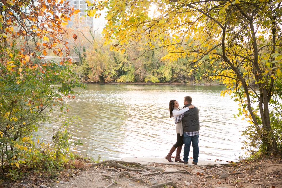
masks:
<svg viewBox="0 0 282 188"><path fill-rule="evenodd" d="M190 105L188 108L184 108L182 110L180 110L179 108L179 104L176 100L170 100L169 101L169 117L174 117L174 119L178 116L183 114L184 112L188 111L191 108L194 108L193 105ZM176 124L176 134L177 134L177 141L176 143L172 146L172 148L170 149L169 153L167 154L167 156L165 157L169 162L173 162L171 159L172 153L176 150L176 156L175 156L175 162L181 162L184 163L184 161L182 161L180 159L180 153L181 153L181 149L182 149L182 145L183 145L183 127L182 127L182 121L180 121L178 124Z"/></svg>

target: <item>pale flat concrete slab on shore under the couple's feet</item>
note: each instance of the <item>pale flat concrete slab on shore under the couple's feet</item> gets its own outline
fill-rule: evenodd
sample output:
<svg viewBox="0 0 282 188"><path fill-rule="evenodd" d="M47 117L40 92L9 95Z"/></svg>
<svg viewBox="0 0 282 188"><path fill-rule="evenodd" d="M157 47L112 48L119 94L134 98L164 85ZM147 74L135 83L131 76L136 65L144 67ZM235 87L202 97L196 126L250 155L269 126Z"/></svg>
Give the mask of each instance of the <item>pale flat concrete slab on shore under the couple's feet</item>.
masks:
<svg viewBox="0 0 282 188"><path fill-rule="evenodd" d="M174 161L174 158L172 158L172 160ZM183 159L182 159L183 160ZM183 163L180 162L168 162L167 159L165 159L165 157L123 157L121 159L121 161L127 161L127 162L138 162L141 163L142 165L148 164L148 163L163 163L163 164L168 164L168 165L174 165L174 164L178 164L178 165L184 165ZM188 160L188 164L185 165L193 165L192 164L193 159L189 159ZM214 161L204 161L199 159L198 161L198 165L218 165L218 164L223 164L223 163L219 163L219 162L214 162Z"/></svg>

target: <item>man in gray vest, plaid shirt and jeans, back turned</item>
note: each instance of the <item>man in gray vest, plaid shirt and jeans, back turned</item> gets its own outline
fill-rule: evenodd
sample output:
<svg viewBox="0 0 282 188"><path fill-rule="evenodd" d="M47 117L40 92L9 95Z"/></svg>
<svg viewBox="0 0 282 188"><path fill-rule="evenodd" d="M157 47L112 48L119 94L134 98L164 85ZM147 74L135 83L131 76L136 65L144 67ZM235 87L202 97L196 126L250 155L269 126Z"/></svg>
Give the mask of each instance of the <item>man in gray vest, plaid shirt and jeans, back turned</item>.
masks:
<svg viewBox="0 0 282 188"><path fill-rule="evenodd" d="M186 108L192 103L192 98L190 96L184 97L184 107ZM175 123L178 124L182 120L183 126L183 142L184 142L184 164L188 163L190 145L192 142L193 147L193 162L192 164L198 164L199 158L199 130L200 130L200 121L199 121L199 109L197 107L189 109L184 114L181 114L176 117Z"/></svg>

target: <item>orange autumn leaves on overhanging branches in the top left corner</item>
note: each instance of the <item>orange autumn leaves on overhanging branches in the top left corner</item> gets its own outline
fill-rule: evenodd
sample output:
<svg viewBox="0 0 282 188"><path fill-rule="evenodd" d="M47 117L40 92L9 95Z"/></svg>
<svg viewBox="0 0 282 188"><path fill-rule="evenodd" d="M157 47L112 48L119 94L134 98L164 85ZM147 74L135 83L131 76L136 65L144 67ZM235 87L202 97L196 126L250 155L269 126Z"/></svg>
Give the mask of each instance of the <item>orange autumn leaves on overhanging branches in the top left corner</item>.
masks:
<svg viewBox="0 0 282 188"><path fill-rule="evenodd" d="M4 53L10 54L12 43L16 40L20 53L10 58L20 59L27 56L29 59L26 58L25 62L30 62L40 60L43 56L56 55L60 56L61 64L71 62L68 42L63 37L66 33L64 26L79 10L74 10L65 0L1 2L3 14L0 16L0 40L4 42L1 44L6 49ZM7 62L10 60L6 58Z"/></svg>

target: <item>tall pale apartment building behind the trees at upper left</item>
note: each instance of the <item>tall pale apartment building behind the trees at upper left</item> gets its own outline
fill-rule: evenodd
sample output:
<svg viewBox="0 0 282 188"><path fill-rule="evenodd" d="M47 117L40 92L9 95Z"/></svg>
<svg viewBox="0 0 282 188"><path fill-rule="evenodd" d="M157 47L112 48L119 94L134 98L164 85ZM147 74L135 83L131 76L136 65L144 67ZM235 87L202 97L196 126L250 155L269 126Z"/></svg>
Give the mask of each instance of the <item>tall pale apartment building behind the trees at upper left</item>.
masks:
<svg viewBox="0 0 282 188"><path fill-rule="evenodd" d="M73 23L73 17L70 18L70 21L68 22L68 27L93 27L94 26L94 17L90 18L87 16L87 10L89 10L89 7L87 7L87 3L85 3L85 0L70 0L69 1L70 6L73 6L75 10L79 9L80 12L79 18L81 18L81 22L79 23L79 26L75 26Z"/></svg>

